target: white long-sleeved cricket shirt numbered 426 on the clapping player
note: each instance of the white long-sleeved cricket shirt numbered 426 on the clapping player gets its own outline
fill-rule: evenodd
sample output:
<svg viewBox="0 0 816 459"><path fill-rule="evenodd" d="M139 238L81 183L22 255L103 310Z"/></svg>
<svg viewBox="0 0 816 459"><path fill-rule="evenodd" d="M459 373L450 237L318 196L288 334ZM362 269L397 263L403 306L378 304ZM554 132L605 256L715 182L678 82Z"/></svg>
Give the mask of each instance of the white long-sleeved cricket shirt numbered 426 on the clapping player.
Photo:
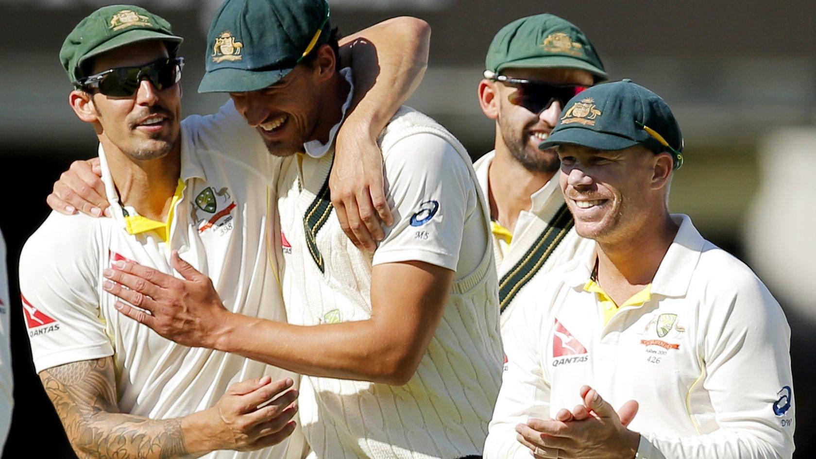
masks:
<svg viewBox="0 0 816 459"><path fill-rule="evenodd" d="M582 403L591 385L615 409L640 403L638 457L789 459L795 428L790 328L746 265L688 216L651 283L651 299L603 325L584 290L594 254L519 298L485 457L529 458L515 426Z"/></svg>

